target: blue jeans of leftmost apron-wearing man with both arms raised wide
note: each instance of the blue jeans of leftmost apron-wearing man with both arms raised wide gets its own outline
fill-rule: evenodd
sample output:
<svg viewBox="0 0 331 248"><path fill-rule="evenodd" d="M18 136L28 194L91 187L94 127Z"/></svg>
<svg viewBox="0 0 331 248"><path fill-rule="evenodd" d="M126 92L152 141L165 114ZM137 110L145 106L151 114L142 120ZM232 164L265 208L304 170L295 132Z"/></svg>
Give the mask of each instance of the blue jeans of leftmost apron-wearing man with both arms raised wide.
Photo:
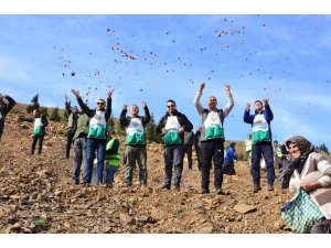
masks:
<svg viewBox="0 0 331 248"><path fill-rule="evenodd" d="M93 160L95 152L97 152L97 182L103 183L104 177L104 161L106 153L106 140L87 138L86 142L86 163L85 163L85 175L83 183L90 183L93 172Z"/></svg>

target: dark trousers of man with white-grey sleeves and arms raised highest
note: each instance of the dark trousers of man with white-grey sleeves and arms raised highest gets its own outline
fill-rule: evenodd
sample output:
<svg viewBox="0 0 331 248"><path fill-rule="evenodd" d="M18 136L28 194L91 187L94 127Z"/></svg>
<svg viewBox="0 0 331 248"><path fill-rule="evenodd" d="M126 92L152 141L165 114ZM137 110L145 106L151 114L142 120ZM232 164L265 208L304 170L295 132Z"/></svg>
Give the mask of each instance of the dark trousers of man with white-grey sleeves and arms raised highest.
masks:
<svg viewBox="0 0 331 248"><path fill-rule="evenodd" d="M214 185L221 188L223 183L222 165L224 162L224 144L222 140L209 140L201 142L201 187L210 190L210 171L214 162Z"/></svg>

